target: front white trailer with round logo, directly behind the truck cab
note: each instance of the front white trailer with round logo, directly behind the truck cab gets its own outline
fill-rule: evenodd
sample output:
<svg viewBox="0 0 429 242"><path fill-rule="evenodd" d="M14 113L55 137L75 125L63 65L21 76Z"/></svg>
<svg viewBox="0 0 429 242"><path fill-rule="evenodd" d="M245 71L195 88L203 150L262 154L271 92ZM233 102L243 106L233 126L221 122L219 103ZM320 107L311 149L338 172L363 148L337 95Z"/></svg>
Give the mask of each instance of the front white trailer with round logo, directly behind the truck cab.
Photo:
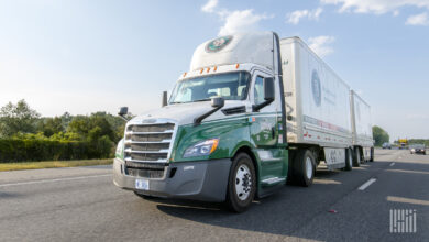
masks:
<svg viewBox="0 0 429 242"><path fill-rule="evenodd" d="M299 37L283 38L280 53L289 145L312 148L330 169L346 167L350 87Z"/></svg>

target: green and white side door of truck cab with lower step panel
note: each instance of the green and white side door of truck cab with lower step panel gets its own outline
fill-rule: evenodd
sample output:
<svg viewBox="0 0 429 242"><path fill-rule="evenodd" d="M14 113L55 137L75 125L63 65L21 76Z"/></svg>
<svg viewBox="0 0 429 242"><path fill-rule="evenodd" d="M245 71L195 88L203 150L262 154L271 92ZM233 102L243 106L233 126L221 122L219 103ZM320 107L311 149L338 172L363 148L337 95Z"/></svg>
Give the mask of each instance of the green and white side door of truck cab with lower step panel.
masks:
<svg viewBox="0 0 429 242"><path fill-rule="evenodd" d="M251 101L258 105L264 99L264 78L273 77L263 72L255 70L251 86ZM258 111L252 111L249 118L251 140L256 147L260 160L260 180L267 186L285 178L285 150L279 147L283 136L279 139L282 120L282 107L278 79L275 79L275 100Z"/></svg>

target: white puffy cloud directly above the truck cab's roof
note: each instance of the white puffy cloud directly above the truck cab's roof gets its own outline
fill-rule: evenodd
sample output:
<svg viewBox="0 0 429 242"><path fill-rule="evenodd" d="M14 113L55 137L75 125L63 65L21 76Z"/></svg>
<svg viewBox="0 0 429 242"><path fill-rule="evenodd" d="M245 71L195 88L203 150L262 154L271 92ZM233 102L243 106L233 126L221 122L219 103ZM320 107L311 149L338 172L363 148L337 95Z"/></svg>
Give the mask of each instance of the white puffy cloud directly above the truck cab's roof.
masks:
<svg viewBox="0 0 429 242"><path fill-rule="evenodd" d="M201 7L202 12L218 14L223 26L220 28L218 35L228 35L243 31L257 30L261 20L271 19L273 15L257 14L253 9L230 11L227 9L217 9L218 0L209 0Z"/></svg>

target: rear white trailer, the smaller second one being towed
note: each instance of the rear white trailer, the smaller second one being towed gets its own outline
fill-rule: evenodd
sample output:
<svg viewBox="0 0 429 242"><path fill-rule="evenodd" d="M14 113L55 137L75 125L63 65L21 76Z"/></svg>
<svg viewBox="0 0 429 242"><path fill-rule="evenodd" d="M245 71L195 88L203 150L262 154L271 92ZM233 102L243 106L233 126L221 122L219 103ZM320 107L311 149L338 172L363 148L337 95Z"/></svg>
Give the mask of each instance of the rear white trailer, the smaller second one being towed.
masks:
<svg viewBox="0 0 429 242"><path fill-rule="evenodd" d="M359 95L350 91L350 109L353 134L353 162L374 161L374 140L371 123L371 107Z"/></svg>

